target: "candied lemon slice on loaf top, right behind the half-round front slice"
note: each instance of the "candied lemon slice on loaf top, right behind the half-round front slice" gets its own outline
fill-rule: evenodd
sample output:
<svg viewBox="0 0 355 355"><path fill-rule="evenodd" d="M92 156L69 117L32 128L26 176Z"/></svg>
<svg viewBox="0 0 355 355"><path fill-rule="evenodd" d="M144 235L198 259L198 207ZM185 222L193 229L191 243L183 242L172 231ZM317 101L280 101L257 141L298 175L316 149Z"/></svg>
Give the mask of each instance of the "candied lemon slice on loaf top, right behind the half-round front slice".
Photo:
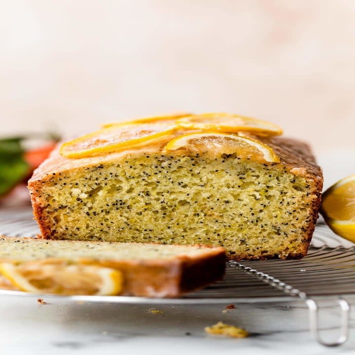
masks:
<svg viewBox="0 0 355 355"><path fill-rule="evenodd" d="M230 113L204 113L177 119L177 125L188 129L224 133L252 132L259 136L277 136L283 133L273 123Z"/></svg>

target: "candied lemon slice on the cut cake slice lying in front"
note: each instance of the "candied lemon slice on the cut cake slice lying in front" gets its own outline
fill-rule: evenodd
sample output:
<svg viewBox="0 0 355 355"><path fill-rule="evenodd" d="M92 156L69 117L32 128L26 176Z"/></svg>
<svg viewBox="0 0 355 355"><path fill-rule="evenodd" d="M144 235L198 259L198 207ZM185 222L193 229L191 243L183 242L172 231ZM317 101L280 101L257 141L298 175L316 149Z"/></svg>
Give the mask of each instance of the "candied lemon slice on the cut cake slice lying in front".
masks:
<svg viewBox="0 0 355 355"><path fill-rule="evenodd" d="M34 293L116 295L123 284L120 271L93 265L8 262L0 263L0 273L19 290Z"/></svg>

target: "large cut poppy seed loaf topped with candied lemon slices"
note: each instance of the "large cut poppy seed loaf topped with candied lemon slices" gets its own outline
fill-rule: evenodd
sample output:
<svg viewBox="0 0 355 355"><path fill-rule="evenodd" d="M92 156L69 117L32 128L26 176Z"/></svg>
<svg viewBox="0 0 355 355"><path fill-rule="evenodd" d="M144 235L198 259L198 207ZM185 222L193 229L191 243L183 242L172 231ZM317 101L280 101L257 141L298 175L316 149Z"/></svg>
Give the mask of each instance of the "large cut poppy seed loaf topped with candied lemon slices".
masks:
<svg viewBox="0 0 355 355"><path fill-rule="evenodd" d="M322 175L307 144L227 114L106 125L58 147L29 181L45 239L222 246L300 258Z"/></svg>

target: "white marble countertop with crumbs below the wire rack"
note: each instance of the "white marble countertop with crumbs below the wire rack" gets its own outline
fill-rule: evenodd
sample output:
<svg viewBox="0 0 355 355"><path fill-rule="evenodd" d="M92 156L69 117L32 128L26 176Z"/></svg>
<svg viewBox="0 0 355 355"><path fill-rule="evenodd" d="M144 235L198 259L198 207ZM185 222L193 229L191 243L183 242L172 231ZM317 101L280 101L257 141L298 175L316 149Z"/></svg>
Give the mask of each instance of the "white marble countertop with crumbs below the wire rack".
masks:
<svg viewBox="0 0 355 355"><path fill-rule="evenodd" d="M46 301L44 299L44 301ZM301 301L220 305L39 304L35 297L1 296L1 354L354 354L355 312L350 340L325 348L312 339L308 310ZM355 304L355 297L348 298ZM339 309L322 302L321 334L337 337ZM156 309L162 313L152 313ZM211 336L204 327L217 321L246 328L245 339Z"/></svg>

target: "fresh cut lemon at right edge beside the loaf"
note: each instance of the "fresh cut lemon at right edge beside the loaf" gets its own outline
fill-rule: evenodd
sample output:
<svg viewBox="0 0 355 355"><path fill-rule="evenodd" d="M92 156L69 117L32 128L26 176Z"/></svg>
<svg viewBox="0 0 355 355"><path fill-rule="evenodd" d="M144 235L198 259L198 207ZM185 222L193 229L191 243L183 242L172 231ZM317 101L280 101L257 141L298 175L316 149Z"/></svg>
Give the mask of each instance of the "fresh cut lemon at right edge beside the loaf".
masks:
<svg viewBox="0 0 355 355"><path fill-rule="evenodd" d="M323 193L320 212L334 233L355 243L355 174Z"/></svg>

